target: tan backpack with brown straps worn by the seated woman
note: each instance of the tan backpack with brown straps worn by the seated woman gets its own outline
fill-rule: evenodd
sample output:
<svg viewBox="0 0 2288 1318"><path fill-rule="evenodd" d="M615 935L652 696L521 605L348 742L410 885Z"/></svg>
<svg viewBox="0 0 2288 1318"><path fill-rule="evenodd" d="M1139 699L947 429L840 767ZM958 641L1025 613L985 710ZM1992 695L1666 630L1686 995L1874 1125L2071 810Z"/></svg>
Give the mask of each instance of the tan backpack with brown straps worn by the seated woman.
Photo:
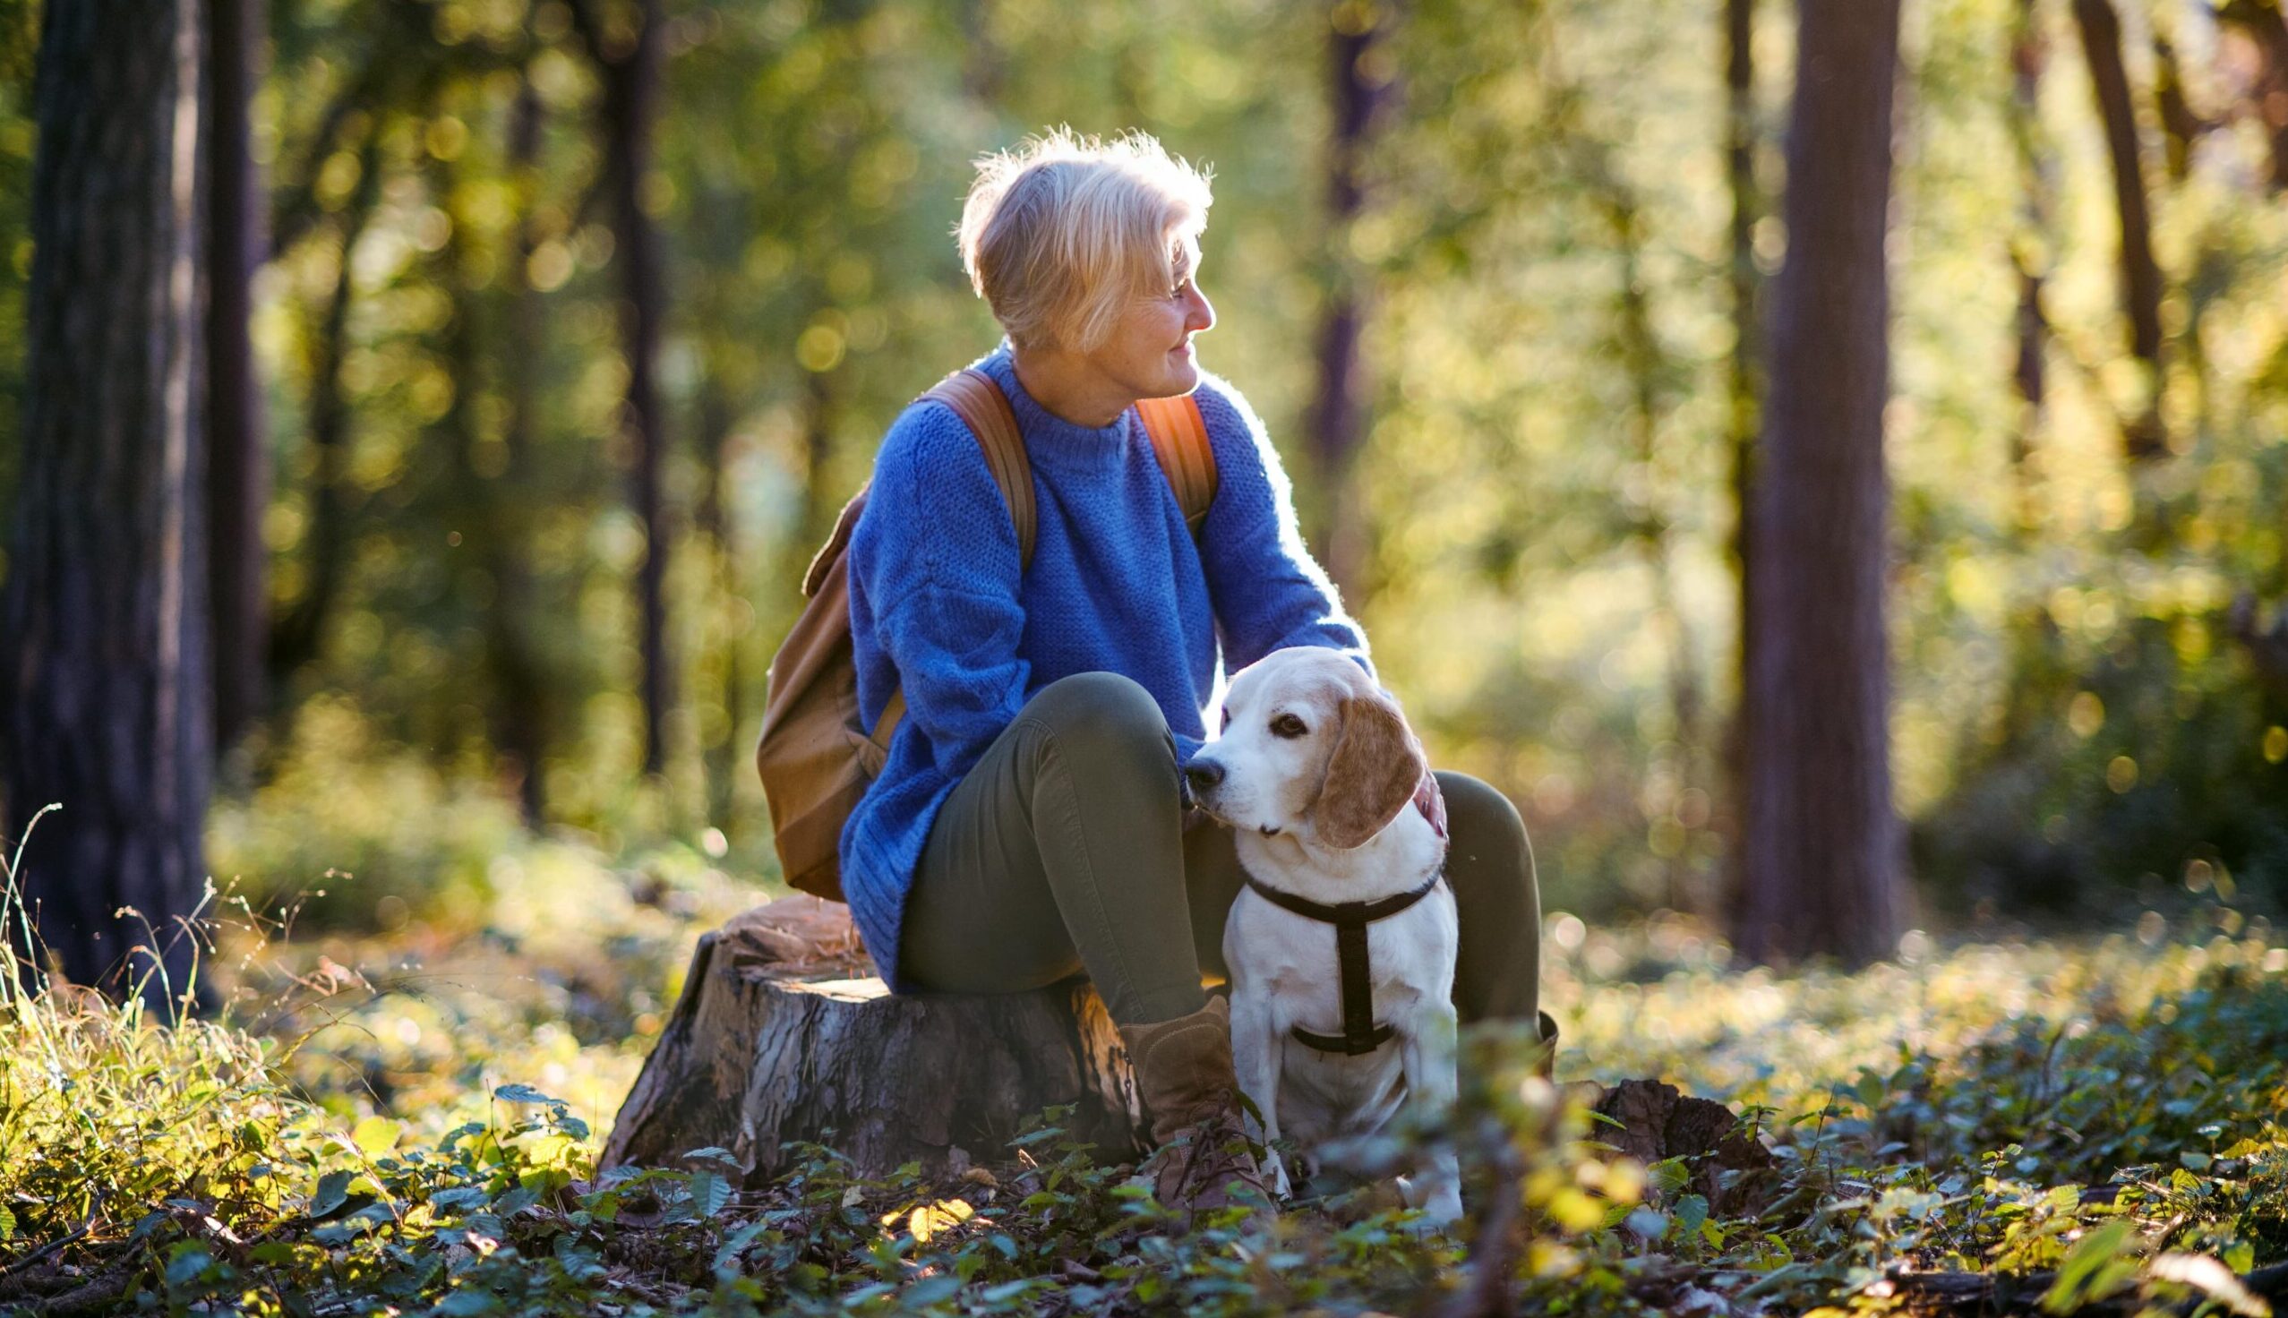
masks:
<svg viewBox="0 0 2288 1318"><path fill-rule="evenodd" d="M1000 384L984 371L954 371L915 403L938 400L961 416L986 467L1009 503L1016 547L1032 563L1032 538L1039 513L1032 503L1032 462L1016 430L1016 414ZM1194 540L1215 501L1215 451L1208 446L1208 423L1199 400L1144 398L1137 403L1144 432L1151 437L1160 471L1176 492L1183 519ZM890 693L872 730L858 716L858 666L851 654L849 542L867 490L835 517L835 533L819 547L803 574L801 616L771 659L769 691L762 702L762 741L755 746L755 771L771 803L773 847L787 883L842 899L842 821L858 808L867 785L890 755L890 735L906 714L901 691Z"/></svg>

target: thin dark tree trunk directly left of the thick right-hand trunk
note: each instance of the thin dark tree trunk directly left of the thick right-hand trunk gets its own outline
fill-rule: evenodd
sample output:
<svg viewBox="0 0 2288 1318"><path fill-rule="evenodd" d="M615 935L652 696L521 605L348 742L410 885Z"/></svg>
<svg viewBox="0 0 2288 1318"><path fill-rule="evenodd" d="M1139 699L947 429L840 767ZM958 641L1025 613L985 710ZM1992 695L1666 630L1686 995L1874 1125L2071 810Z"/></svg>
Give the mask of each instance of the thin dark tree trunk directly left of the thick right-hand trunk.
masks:
<svg viewBox="0 0 2288 1318"><path fill-rule="evenodd" d="M1755 185L1755 0L1723 0L1723 85L1725 85L1725 183L1732 192L1730 247L1732 261L1727 284L1732 293L1732 355L1725 362L1727 439L1732 453L1732 572L1739 581L1739 650L1734 654L1734 682L1739 705L1725 728L1723 776L1730 805L1727 842L1730 863L1741 856L1739 826L1746 799L1746 776L1753 751L1748 748L1748 682L1755 632L1755 432L1762 412L1762 277L1755 270L1755 220L1762 213L1762 192ZM1741 874L1725 876L1725 890L1743 892Z"/></svg>

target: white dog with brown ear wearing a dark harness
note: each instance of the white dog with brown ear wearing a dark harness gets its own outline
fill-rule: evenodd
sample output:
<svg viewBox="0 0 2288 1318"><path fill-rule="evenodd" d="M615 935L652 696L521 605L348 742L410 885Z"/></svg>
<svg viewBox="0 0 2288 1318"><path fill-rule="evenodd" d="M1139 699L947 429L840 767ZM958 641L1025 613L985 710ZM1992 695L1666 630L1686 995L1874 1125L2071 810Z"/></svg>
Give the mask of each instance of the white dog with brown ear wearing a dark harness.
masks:
<svg viewBox="0 0 2288 1318"><path fill-rule="evenodd" d="M1247 888L1224 922L1231 1055L1265 1144L1373 1135L1409 1098L1455 1098L1446 810L1398 705L1336 650L1274 650L1224 696L1222 735L1185 764L1229 824ZM1290 1192L1277 1151L1270 1188ZM1462 1215L1451 1151L1405 1201Z"/></svg>

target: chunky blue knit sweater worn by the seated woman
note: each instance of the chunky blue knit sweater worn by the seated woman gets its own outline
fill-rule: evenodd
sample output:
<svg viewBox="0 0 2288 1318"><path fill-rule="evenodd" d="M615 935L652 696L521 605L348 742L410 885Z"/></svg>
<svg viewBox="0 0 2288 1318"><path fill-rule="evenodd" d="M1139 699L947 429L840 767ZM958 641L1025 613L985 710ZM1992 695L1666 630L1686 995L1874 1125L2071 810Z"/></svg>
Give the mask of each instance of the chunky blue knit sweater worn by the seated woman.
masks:
<svg viewBox="0 0 2288 1318"><path fill-rule="evenodd" d="M1032 458L1032 565L1018 565L984 451L943 403L890 426L849 547L867 725L906 691L888 764L842 828L842 892L892 991L913 989L897 947L929 826L1043 686L1123 673L1160 702L1190 760L1206 735L1217 638L1231 670L1281 645L1366 661L1366 638L1295 531L1279 455L1229 384L1203 375L1199 387L1217 492L1194 545L1135 410L1075 426L1025 394L1007 343L977 366L1009 396Z"/></svg>

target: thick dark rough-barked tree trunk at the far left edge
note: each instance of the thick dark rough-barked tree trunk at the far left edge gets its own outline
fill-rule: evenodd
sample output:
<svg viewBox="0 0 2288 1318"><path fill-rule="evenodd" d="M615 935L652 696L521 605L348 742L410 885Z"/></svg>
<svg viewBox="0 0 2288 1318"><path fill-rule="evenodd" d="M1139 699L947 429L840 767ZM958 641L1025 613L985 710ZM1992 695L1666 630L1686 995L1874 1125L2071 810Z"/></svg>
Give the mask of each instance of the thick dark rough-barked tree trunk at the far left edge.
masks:
<svg viewBox="0 0 2288 1318"><path fill-rule="evenodd" d="M199 0L46 7L23 483L0 600L5 831L64 805L23 853L41 938L73 982L142 982L151 1002L190 984L174 920L206 881L215 753L201 43ZM162 950L165 986L137 945Z"/></svg>

